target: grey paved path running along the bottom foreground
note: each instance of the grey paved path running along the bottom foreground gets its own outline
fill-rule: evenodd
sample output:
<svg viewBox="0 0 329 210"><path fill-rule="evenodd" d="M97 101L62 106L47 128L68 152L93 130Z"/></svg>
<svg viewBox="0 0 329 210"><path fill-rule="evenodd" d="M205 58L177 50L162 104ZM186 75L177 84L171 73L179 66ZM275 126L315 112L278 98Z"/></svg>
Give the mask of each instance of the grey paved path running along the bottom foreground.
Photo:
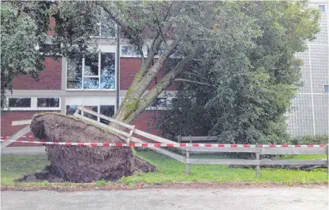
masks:
<svg viewBox="0 0 329 210"><path fill-rule="evenodd" d="M328 209L328 187L1 192L1 210Z"/></svg>

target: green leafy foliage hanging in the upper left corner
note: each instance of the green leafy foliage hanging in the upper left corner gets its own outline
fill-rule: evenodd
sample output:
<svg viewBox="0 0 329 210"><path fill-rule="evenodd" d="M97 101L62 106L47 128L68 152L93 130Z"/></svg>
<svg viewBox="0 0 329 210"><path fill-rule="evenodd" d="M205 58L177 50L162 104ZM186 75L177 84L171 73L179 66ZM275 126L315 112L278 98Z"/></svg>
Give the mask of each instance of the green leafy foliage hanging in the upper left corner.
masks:
<svg viewBox="0 0 329 210"><path fill-rule="evenodd" d="M50 5L47 1L1 1L1 110L15 76L30 74L38 80L38 71L44 69L44 54L37 46L48 39Z"/></svg>

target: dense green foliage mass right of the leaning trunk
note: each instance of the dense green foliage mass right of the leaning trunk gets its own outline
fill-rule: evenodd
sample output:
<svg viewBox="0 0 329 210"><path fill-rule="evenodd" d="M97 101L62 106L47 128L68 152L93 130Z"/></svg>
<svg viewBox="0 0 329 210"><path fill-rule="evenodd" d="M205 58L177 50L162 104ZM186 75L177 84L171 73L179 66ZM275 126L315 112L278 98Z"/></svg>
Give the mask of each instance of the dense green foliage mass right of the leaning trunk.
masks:
<svg viewBox="0 0 329 210"><path fill-rule="evenodd" d="M189 66L184 78L204 85L178 84L177 100L164 114L162 128L172 135L217 135L222 143L285 143L284 115L301 77L302 62L294 54L318 33L318 10L304 1L224 5L215 9L234 14L227 28L244 30L236 30L232 38L219 37L223 44L213 45L211 54Z"/></svg>

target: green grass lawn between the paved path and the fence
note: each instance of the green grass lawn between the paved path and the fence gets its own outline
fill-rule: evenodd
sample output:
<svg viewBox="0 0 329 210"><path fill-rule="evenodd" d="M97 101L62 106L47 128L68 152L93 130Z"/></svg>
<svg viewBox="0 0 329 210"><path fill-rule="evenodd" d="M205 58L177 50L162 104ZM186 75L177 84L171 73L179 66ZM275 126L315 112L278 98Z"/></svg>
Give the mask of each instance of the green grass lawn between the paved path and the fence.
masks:
<svg viewBox="0 0 329 210"><path fill-rule="evenodd" d="M158 172L137 174L130 177L122 177L118 183L136 185L139 182L152 184L190 183L190 182L294 182L307 184L309 182L328 183L326 169L313 170L311 172L301 170L283 170L261 168L261 175L256 176L253 169L228 168L227 165L190 165L190 175L185 174L186 165L178 161L162 156L153 151L142 151L138 156L153 163ZM222 158L220 155L192 155L191 158ZM326 158L325 155L300 155L285 156L282 159L312 160ZM42 170L49 162L44 156L1 156L1 185L17 185L13 180L36 170ZM100 181L98 181L100 182ZM96 183L97 184L97 183ZM104 184L103 182L101 183ZM19 185L25 185L20 183ZM28 184L26 184L28 185ZM29 184L30 185L30 184ZM40 185L40 184L38 184Z"/></svg>

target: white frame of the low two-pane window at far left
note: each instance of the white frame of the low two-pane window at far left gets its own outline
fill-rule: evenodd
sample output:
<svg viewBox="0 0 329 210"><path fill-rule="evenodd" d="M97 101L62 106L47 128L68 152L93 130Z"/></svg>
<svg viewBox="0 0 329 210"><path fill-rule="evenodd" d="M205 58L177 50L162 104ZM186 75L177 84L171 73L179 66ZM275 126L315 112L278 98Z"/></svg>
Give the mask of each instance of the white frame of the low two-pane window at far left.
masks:
<svg viewBox="0 0 329 210"><path fill-rule="evenodd" d="M30 107L9 107L9 98L30 98L31 99L31 106ZM37 107L37 98L59 98L59 107ZM7 97L7 107L4 110L11 110L11 111L60 111L61 110L61 97Z"/></svg>

